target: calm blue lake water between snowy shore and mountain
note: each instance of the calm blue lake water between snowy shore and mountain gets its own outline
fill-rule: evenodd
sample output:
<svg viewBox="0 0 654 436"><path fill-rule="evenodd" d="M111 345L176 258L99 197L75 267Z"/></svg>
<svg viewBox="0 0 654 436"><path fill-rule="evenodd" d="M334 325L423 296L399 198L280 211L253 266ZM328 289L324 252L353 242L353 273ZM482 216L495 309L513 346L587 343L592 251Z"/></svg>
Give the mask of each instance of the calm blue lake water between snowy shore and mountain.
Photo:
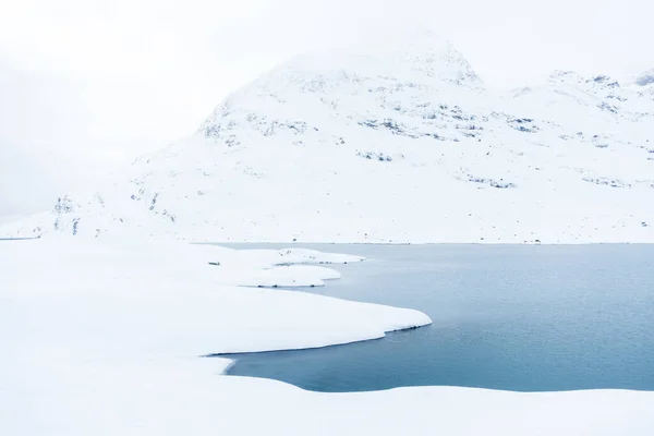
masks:
<svg viewBox="0 0 654 436"><path fill-rule="evenodd" d="M654 245L302 246L368 261L298 292L417 308L434 324L348 346L232 354L229 374L318 391L654 390Z"/></svg>

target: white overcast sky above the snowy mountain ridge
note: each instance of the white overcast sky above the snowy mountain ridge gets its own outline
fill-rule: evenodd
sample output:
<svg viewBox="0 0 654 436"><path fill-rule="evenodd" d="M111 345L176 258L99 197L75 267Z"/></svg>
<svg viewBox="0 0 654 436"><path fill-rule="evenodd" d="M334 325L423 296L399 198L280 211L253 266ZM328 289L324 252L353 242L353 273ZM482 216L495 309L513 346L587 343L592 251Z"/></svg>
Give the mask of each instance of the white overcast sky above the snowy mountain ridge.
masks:
<svg viewBox="0 0 654 436"><path fill-rule="evenodd" d="M0 0L0 220L194 131L296 52L426 27L491 86L654 68L651 0ZM7 218L4 218L7 219Z"/></svg>

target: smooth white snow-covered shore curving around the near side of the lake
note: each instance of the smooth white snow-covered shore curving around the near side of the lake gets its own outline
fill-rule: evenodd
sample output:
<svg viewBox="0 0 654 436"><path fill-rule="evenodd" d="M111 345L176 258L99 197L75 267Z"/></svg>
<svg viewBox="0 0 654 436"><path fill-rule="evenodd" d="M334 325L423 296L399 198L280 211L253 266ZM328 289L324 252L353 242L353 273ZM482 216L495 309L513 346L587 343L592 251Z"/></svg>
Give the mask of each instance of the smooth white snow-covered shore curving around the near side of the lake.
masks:
<svg viewBox="0 0 654 436"><path fill-rule="evenodd" d="M0 434L652 434L654 392L318 393L222 376L228 360L199 358L429 323L412 310L254 288L319 283L338 275L305 264L358 261L164 242L2 242Z"/></svg>

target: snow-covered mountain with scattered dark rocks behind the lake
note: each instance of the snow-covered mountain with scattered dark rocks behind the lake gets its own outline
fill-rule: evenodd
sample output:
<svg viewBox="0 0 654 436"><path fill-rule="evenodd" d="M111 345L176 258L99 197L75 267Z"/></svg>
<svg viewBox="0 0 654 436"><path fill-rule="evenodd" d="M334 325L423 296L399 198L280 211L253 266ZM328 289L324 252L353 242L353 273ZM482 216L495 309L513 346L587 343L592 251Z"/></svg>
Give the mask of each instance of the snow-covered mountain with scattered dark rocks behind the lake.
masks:
<svg viewBox="0 0 654 436"><path fill-rule="evenodd" d="M654 71L497 93L429 35L298 56L116 183L4 230L56 232L654 242Z"/></svg>

